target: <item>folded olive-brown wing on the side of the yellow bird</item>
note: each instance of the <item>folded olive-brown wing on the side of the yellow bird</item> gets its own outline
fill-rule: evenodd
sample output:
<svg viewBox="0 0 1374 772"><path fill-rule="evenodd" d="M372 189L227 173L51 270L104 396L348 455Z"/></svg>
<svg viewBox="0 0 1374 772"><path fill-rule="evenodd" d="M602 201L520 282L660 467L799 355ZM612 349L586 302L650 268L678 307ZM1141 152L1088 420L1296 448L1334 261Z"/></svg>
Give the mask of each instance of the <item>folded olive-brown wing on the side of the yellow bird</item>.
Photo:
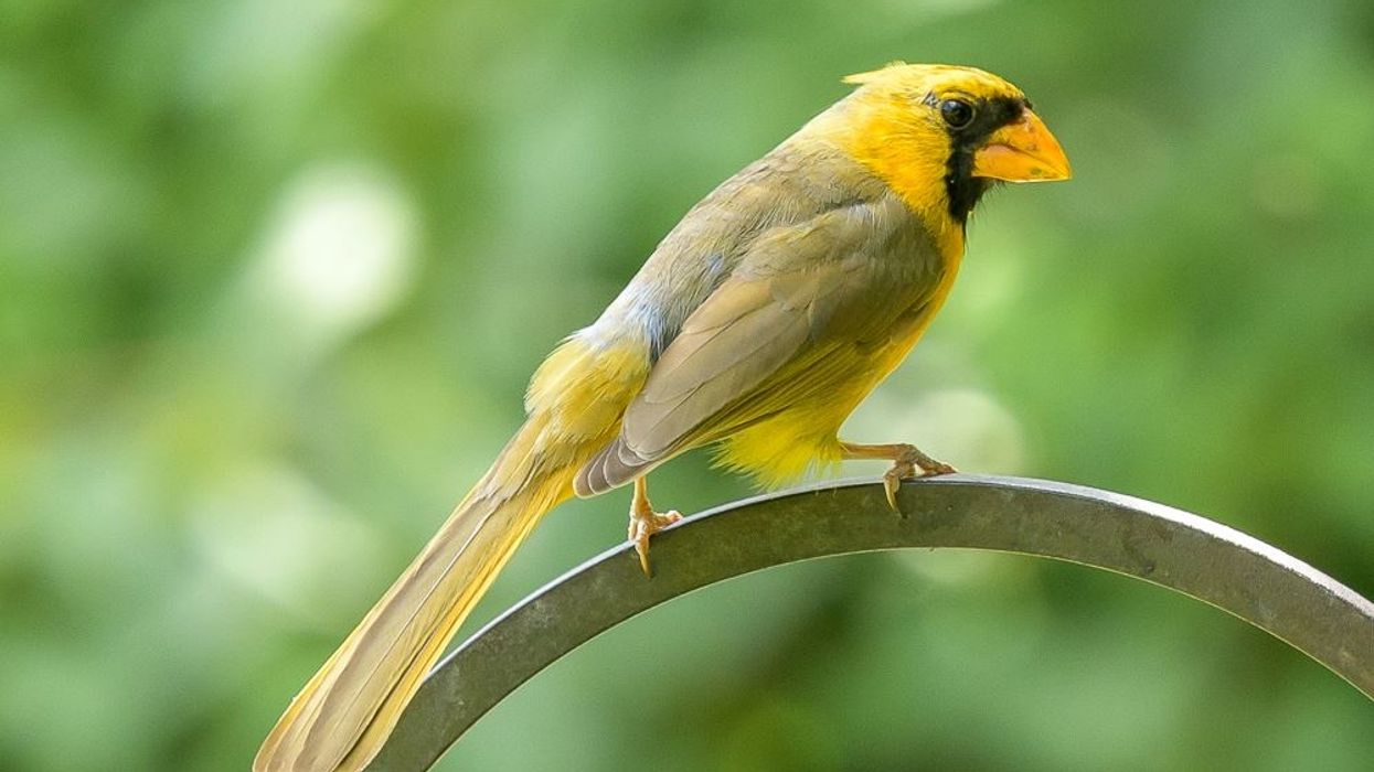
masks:
<svg viewBox="0 0 1374 772"><path fill-rule="evenodd" d="M933 256L929 239L875 228L875 206L761 236L654 363L620 437L578 475L578 493L622 485L842 379L826 363L853 357L834 354L885 338L919 306L934 286L936 261L921 258Z"/></svg>

